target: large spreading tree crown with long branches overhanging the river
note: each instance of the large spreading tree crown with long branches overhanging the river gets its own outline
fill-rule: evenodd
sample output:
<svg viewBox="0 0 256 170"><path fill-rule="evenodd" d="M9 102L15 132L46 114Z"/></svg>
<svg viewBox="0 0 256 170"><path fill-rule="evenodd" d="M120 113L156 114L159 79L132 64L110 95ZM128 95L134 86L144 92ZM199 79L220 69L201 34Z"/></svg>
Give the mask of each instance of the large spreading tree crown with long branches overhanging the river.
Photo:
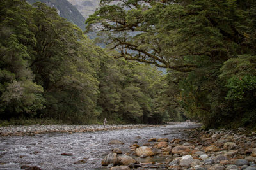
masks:
<svg viewBox="0 0 256 170"><path fill-rule="evenodd" d="M202 66L202 60L223 62L248 46L236 5L221 0L102 0L86 21L87 31L99 31L120 52L118 57L189 72Z"/></svg>

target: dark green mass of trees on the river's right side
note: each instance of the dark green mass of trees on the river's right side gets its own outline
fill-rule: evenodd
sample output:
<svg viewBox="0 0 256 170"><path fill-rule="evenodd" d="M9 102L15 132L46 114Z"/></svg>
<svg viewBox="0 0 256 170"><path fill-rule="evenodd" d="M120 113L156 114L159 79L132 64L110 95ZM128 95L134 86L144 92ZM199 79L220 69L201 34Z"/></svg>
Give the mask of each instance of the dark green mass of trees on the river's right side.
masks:
<svg viewBox="0 0 256 170"><path fill-rule="evenodd" d="M86 24L117 58L169 69L164 101L205 127L239 127L256 120L255 21L252 0L102 0Z"/></svg>

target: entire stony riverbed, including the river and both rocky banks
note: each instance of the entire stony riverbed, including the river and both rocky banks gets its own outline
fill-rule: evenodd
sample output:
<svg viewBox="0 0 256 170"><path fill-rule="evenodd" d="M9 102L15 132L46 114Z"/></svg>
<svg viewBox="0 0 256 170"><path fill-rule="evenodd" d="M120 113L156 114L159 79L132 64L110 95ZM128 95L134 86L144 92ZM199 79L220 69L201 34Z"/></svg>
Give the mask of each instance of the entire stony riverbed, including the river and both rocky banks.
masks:
<svg viewBox="0 0 256 170"><path fill-rule="evenodd" d="M253 132L146 126L4 127L0 169L256 169Z"/></svg>

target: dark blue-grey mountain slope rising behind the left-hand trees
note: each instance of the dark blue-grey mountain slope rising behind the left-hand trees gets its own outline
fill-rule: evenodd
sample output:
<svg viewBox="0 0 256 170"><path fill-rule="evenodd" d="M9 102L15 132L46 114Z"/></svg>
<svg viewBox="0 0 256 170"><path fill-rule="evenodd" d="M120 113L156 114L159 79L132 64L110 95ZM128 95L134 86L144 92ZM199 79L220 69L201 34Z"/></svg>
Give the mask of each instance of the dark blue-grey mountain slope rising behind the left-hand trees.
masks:
<svg viewBox="0 0 256 170"><path fill-rule="evenodd" d="M61 0L61 1L56 1L56 0L27 0L28 3L33 4L37 1L40 1L42 3L47 4L47 6L54 7L58 10L58 14L60 17L66 18L73 24L76 24L78 27L80 27L82 30L84 30L85 25L85 19L79 13L77 8L75 8L71 3L69 3L67 0Z"/></svg>

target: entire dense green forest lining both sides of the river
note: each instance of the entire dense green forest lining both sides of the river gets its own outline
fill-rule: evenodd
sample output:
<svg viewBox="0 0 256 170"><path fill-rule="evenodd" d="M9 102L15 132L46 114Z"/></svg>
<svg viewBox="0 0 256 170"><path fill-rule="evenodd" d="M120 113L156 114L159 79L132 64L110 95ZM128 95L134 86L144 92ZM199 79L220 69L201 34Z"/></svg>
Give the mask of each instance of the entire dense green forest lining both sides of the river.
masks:
<svg viewBox="0 0 256 170"><path fill-rule="evenodd" d="M55 8L1 0L1 121L255 126L255 1L113 1L86 20L103 49Z"/></svg>

